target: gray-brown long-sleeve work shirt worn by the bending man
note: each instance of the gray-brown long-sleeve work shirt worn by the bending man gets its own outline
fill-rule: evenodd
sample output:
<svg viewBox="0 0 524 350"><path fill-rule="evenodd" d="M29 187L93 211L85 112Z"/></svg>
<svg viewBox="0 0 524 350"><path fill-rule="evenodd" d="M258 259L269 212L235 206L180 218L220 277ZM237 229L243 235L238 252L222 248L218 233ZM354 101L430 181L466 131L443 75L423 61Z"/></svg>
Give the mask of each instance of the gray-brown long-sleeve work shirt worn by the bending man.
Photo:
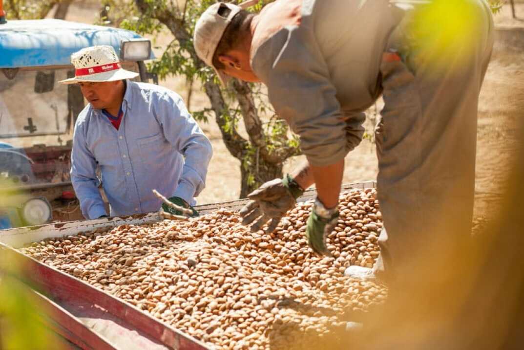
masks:
<svg viewBox="0 0 524 350"><path fill-rule="evenodd" d="M253 71L310 164L340 161L361 142L363 111L380 95L382 53L401 14L388 0L303 0L300 25L263 39L271 18L260 20Z"/></svg>

